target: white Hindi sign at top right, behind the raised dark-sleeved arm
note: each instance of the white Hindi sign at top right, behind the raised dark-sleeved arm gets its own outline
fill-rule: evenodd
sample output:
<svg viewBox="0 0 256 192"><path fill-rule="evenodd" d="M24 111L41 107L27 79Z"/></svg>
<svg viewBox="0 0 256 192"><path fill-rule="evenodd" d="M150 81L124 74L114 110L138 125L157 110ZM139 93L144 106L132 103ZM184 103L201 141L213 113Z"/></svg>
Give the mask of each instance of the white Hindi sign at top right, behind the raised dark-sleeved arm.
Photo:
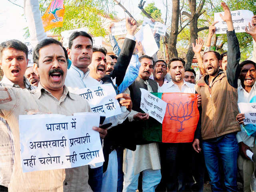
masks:
<svg viewBox="0 0 256 192"><path fill-rule="evenodd" d="M216 34L224 34L228 30L227 23L222 20L220 13L224 15L224 12L214 13L214 22L219 21L216 26ZM252 21L253 12L249 10L236 10L231 11L232 21L236 33L245 32L245 27L248 22Z"/></svg>

